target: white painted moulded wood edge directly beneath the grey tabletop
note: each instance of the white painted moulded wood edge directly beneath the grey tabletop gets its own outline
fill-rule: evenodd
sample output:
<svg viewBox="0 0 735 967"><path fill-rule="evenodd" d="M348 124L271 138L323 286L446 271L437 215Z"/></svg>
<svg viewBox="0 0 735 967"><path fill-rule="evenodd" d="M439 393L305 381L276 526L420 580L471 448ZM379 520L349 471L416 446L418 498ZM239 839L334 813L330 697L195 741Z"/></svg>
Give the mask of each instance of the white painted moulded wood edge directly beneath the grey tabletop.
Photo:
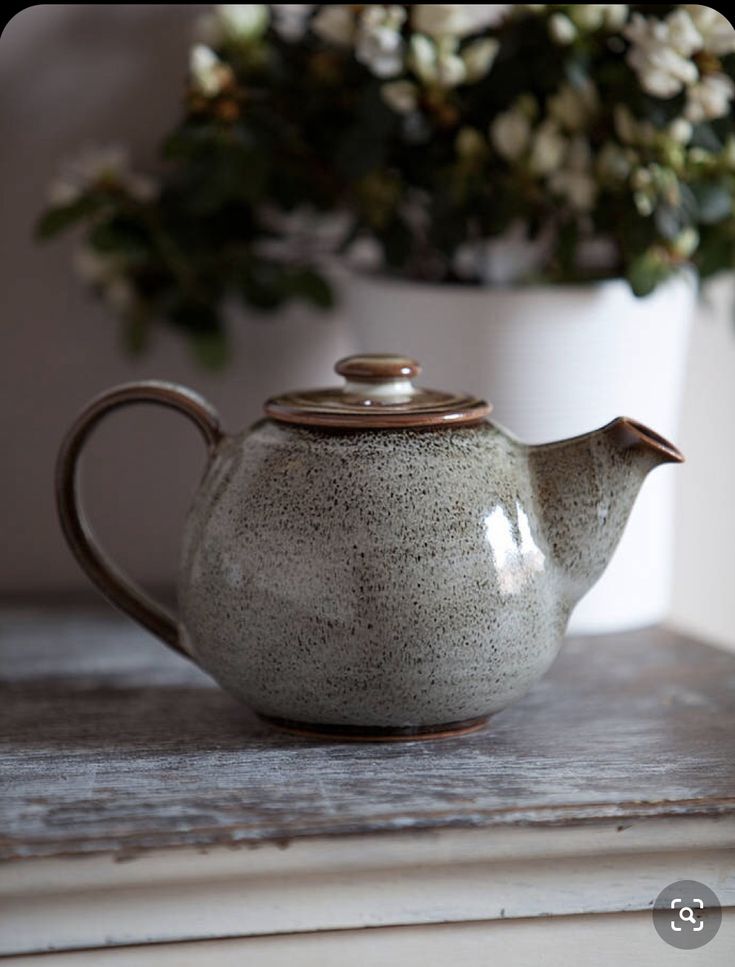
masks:
<svg viewBox="0 0 735 967"><path fill-rule="evenodd" d="M646 910L684 877L735 905L734 872L733 817L24 860L0 953Z"/></svg>

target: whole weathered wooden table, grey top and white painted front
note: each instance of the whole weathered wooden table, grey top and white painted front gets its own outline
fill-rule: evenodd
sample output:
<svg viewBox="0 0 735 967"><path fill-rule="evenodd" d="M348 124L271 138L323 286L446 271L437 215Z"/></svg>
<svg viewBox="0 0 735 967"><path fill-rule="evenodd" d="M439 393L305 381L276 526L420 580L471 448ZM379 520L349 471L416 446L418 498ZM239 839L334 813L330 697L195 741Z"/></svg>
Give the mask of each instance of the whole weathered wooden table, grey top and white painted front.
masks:
<svg viewBox="0 0 735 967"><path fill-rule="evenodd" d="M0 621L9 963L668 964L682 878L726 908L696 963L735 962L733 655L572 639L484 732L326 744L102 606Z"/></svg>

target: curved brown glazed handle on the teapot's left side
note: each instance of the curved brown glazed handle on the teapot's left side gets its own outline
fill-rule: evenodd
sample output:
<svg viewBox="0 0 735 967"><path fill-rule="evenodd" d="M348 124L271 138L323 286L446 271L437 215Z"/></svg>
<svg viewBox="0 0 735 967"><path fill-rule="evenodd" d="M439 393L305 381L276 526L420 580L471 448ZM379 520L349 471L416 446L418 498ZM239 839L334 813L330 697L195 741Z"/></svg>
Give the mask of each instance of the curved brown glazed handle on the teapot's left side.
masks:
<svg viewBox="0 0 735 967"><path fill-rule="evenodd" d="M192 390L175 383L124 383L93 399L79 414L56 461L56 506L64 536L84 571L113 604L187 658L174 618L118 570L97 544L80 504L78 461L82 447L102 417L129 403L157 403L178 410L196 424L211 459L223 437L216 410Z"/></svg>

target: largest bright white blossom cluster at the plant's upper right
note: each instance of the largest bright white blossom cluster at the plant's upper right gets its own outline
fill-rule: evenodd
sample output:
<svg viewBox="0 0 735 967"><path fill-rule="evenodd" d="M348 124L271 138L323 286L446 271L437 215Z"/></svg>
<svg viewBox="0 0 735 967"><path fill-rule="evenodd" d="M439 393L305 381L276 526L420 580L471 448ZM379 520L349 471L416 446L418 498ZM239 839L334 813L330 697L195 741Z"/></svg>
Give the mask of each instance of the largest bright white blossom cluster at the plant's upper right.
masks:
<svg viewBox="0 0 735 967"><path fill-rule="evenodd" d="M636 13L623 34L631 43L628 63L648 94L674 97L697 80L691 56L701 49L702 37L686 10L676 10L664 20Z"/></svg>

